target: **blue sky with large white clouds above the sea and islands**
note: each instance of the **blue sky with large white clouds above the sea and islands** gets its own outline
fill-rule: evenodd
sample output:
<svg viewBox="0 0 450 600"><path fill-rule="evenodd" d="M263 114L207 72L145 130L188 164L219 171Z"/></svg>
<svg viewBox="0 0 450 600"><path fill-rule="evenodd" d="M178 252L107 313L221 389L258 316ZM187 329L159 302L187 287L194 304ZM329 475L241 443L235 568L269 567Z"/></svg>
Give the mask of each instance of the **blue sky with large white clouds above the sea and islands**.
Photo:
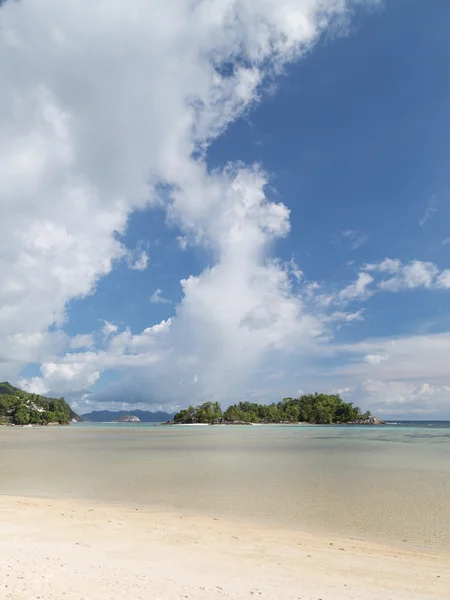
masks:
<svg viewBox="0 0 450 600"><path fill-rule="evenodd" d="M0 380L450 419L449 19L0 2Z"/></svg>

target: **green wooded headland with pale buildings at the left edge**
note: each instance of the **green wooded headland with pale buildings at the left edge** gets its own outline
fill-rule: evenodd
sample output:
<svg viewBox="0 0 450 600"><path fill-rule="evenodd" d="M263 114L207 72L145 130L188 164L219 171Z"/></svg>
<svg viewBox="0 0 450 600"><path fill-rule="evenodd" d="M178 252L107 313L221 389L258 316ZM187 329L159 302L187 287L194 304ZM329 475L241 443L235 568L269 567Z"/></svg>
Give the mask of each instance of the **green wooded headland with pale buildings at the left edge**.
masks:
<svg viewBox="0 0 450 600"><path fill-rule="evenodd" d="M65 425L79 417L64 398L46 398L29 394L10 383L0 383L0 423L14 425Z"/></svg>

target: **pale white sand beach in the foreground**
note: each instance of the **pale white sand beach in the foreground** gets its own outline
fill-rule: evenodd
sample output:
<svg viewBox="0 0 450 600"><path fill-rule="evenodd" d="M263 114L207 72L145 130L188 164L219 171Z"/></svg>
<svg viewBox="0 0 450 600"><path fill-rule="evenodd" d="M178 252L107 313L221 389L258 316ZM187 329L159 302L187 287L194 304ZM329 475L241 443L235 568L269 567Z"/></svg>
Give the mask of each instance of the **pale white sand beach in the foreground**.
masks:
<svg viewBox="0 0 450 600"><path fill-rule="evenodd" d="M448 600L450 556L142 508L0 497L2 600Z"/></svg>

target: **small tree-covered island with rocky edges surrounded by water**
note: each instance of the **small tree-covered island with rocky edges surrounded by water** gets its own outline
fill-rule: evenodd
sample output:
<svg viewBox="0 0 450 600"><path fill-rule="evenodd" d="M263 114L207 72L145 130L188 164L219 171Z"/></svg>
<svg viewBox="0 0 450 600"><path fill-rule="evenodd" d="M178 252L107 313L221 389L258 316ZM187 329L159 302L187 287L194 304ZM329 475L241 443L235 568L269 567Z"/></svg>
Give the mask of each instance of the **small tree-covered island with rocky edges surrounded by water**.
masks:
<svg viewBox="0 0 450 600"><path fill-rule="evenodd" d="M344 402L339 395L307 394L300 398L284 398L278 404L254 404L240 402L222 412L218 402L205 402L197 408L180 410L174 423L349 423L368 419L370 412L361 413L351 402Z"/></svg>

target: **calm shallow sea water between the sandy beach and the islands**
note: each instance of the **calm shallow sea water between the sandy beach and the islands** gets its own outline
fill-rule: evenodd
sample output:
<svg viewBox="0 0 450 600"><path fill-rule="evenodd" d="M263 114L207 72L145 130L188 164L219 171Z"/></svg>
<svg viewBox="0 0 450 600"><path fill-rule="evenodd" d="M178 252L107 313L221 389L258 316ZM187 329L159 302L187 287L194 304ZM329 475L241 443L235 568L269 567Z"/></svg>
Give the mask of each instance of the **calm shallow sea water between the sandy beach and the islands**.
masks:
<svg viewBox="0 0 450 600"><path fill-rule="evenodd" d="M450 428L1 428L0 493L450 548Z"/></svg>

